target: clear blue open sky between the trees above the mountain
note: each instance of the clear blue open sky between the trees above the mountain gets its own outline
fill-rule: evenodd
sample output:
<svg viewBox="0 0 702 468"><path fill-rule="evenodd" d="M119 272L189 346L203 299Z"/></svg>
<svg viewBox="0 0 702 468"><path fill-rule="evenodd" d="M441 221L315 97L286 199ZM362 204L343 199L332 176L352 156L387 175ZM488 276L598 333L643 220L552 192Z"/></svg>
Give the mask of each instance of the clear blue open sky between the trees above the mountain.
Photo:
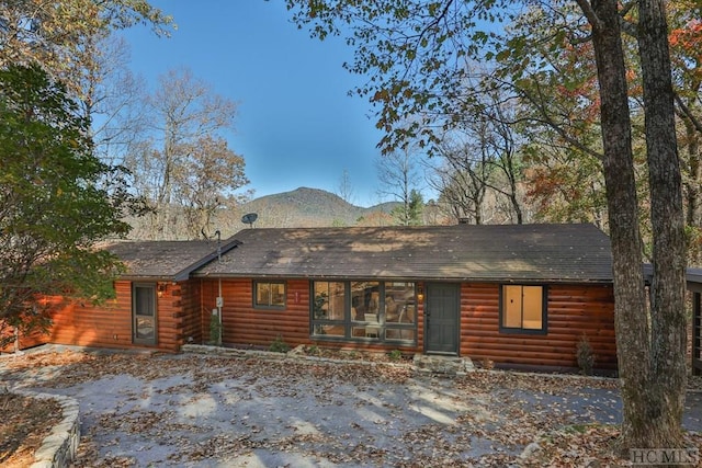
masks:
<svg viewBox="0 0 702 468"><path fill-rule="evenodd" d="M342 64L352 50L341 38L313 39L290 21L282 0L152 0L178 30L158 38L129 30L132 69L149 85L186 66L218 94L239 103L230 147L246 160L254 196L298 186L338 193L348 170L353 202L380 202L372 109L347 92L363 77Z"/></svg>

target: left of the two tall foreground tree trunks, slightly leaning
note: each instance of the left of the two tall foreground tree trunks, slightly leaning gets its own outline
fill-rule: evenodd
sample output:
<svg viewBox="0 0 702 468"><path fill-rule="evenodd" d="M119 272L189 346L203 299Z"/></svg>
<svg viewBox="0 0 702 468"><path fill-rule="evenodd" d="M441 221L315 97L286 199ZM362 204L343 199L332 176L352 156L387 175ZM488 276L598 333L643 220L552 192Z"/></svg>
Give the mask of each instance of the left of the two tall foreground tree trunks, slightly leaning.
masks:
<svg viewBox="0 0 702 468"><path fill-rule="evenodd" d="M590 8L580 2L584 11ZM647 426L650 346L642 272L626 68L616 0L592 0L592 42L601 99L604 182L610 214L616 351L622 383L622 449Z"/></svg>

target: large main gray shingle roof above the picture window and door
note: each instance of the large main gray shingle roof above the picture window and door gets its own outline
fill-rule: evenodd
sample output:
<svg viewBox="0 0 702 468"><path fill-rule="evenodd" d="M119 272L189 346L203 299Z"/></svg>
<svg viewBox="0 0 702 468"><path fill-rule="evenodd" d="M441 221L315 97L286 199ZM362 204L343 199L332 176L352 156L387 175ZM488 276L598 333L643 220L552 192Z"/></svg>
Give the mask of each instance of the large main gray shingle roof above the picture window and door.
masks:
<svg viewBox="0 0 702 468"><path fill-rule="evenodd" d="M245 229L194 276L453 281L612 281L592 225Z"/></svg>

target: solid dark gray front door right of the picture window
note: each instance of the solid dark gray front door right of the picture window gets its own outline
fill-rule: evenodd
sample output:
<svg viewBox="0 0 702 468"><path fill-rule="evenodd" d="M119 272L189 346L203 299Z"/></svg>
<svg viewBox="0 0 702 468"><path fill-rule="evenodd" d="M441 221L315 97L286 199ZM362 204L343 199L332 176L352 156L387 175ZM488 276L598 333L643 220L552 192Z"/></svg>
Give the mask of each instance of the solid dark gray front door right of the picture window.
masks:
<svg viewBox="0 0 702 468"><path fill-rule="evenodd" d="M458 354L460 285L430 283L424 305L427 353Z"/></svg>

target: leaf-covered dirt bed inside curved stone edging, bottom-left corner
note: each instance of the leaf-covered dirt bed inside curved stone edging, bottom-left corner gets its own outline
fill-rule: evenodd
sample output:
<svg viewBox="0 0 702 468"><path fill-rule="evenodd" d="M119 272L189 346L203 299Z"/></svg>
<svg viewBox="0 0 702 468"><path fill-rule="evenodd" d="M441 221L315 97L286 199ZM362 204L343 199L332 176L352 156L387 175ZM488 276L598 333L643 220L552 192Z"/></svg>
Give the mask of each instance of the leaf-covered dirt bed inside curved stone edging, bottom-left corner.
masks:
<svg viewBox="0 0 702 468"><path fill-rule="evenodd" d="M0 393L0 465L26 467L34 453L61 419L60 406L50 399Z"/></svg>

